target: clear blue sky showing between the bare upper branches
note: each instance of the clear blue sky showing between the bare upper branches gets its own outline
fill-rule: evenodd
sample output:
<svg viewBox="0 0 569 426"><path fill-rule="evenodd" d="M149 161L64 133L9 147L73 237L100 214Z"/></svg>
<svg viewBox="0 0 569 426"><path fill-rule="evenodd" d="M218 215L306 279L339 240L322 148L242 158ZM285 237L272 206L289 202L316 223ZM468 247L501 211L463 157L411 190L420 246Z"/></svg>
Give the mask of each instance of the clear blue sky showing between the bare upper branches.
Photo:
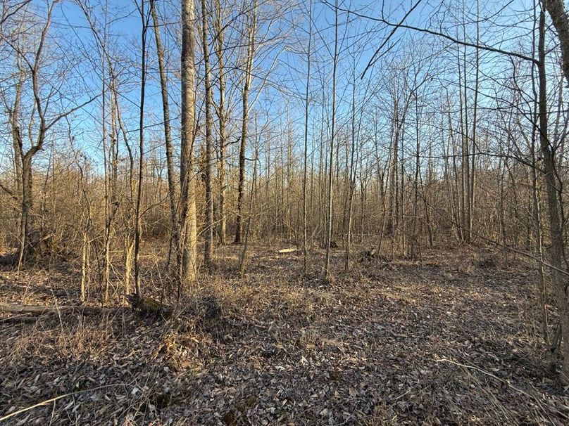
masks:
<svg viewBox="0 0 569 426"><path fill-rule="evenodd" d="M172 19L177 19L172 18L172 12L177 13L177 3L177 1L174 1L173 4L168 4L167 7L169 9L166 11L165 3L158 1L157 4L161 9L161 15L164 20L170 22ZM38 2L38 4L41 3ZM384 15L389 16L390 21L399 22L404 13L406 13L413 4L414 2L412 1L386 1L383 4L383 12ZM277 17L282 20L280 25L282 25L283 30L286 29L287 23L295 22L298 27L294 32L299 41L287 44L287 48L284 50L282 46L275 46L268 48L267 51L260 54L256 62L256 75L258 78L254 79L255 91L255 89L263 86L261 84L261 78L259 77L265 75L264 72L268 70L270 65L275 61L275 58L278 59L277 67L273 69L271 80L275 82L275 84L280 84L281 87L278 88L270 84L265 84L263 86L263 94L258 98L256 106L268 111L268 119L265 120L271 122L276 128L286 128L287 121L292 120L294 131L297 134L296 136L301 133L301 124L304 122L302 98L304 97L304 85L306 84L306 58L301 52L306 50L306 30L308 25L308 14L306 13L307 5L308 2L294 6L294 8L287 12L286 16ZM454 22L462 20L463 16L461 12L457 12L458 15L456 16L445 13L443 22L437 22L436 19L433 19L433 12L441 5L442 3L439 1L423 1L420 6L408 16L406 24L417 25L418 27L430 27L433 29L440 27L443 32L447 32L457 38L462 38L463 29L454 25ZM480 1L480 15L487 18L487 20L484 20L480 25L482 41L503 49L518 49L518 46L515 46L516 41L512 41L512 39L513 36L518 36L519 34L530 31L530 22L520 17L531 17L527 14L527 9L531 6L532 3L527 0L496 3ZM343 1L340 3L340 8L357 11L362 15L374 17L380 15L382 2L372 0ZM473 19L475 8L475 2L465 2L464 16ZM100 11L95 14L95 16L99 18L98 25L102 25L102 14ZM125 81L121 86L121 108L127 127L130 130L131 143L136 144L138 138L137 104L139 100L137 63L140 57L140 31L142 28L137 4L133 0L109 0L107 19L112 40L111 46L109 46L110 49L115 51L117 55L121 53L124 54L127 58L126 61L122 62L125 64L125 69L122 74ZM340 13L339 20L341 24L339 36L342 41L337 72L337 110L340 119L339 127L342 127L347 124L347 116L351 110L351 84L354 79L354 60L350 58L351 52L354 50L358 51L355 69L356 75L359 77L377 46L379 46L384 40L384 37L389 34L390 29L379 25L373 20L356 18L353 14L347 15L346 13ZM346 24L346 20L350 20L349 24ZM317 135L320 133L318 127L320 126L320 122L322 122L322 118L320 117L321 108L317 102L318 99L322 97L322 89L320 89L320 83L322 81L325 82L326 85L324 96L327 102L330 102L332 76L330 53L333 49L333 22L334 13L330 7L330 3L313 1L313 29L315 34L313 34L314 62L311 79L311 98L313 101L311 108L311 122L313 123L311 123L311 129L314 129L314 138L317 138ZM177 67L176 63L180 54L179 46L176 45L175 39L173 39L172 29L174 27L173 25L163 27L163 41L168 54L173 58L173 63L170 66L171 76L174 76L175 67ZM474 26L472 24L469 25L467 32L470 33L470 36L472 36L473 30ZM87 26L85 15L83 15L80 8L73 4L73 2L63 1L57 6L52 34L54 34L54 37L64 37L68 43L70 43L70 46L75 44L77 51L82 51L83 53L81 54L87 56L87 60L93 61L94 65L96 65L99 55L97 51L98 48ZM151 72L146 87L146 140L159 141L162 137L162 118L161 97L158 79L155 73L156 59L153 50L154 34L150 31L147 37L148 44L151 48L149 55ZM199 37L199 34L196 34L196 37ZM301 41L302 39L305 40L304 46ZM382 86L388 83L386 79L390 77L389 72L386 71L386 63L391 63L393 60L402 60L404 57L401 56L401 50L409 51L409 44L419 49L423 49L421 46L425 46L423 50L429 51L433 49L432 45L440 49L439 46L448 43L440 39L435 39L432 36L425 36L424 34L418 34L409 30L398 30L385 47L385 50L389 51L388 55L382 61L378 62L372 70L368 71L364 80L356 79L359 98L362 98L366 88L375 90L374 88L376 86ZM527 43L525 46L525 49L527 49ZM436 51L437 49L434 50ZM196 58L198 58L201 56L199 44L196 44L196 51L198 52ZM472 53L473 51L471 49L469 55ZM504 60L504 58L499 59ZM481 61L482 75L498 77L498 73L494 72L494 68L489 69L487 65L485 65L486 63L492 63L493 67L496 66L495 54L482 53ZM411 62L413 62L413 60L411 60ZM473 72L472 64L468 67L468 72L470 75ZM84 77L85 84L90 86L92 91L95 93L96 91L100 91L101 82L96 70L90 70L90 72L86 71L82 77ZM448 80L446 86L452 90L452 85L456 84L456 69L449 67L445 70L443 67L437 70L437 79ZM170 101L172 104L171 120L173 120L175 125L177 125L178 122L177 110L179 107L179 94L176 84L177 79L173 78L170 82ZM200 82L198 82L198 84L200 84ZM492 89L492 84L492 79L484 79L484 82L482 82L482 86L487 89ZM295 93L296 96L292 96ZM87 96L87 94L88 93L86 93L85 96ZM384 96L384 93L377 93L377 95L381 98L381 96ZM255 92L251 93L251 101L254 98L256 98ZM201 102L201 98L198 99L198 102ZM484 96L481 96L481 102L484 102ZM88 108L85 108L84 111L77 113L75 120L73 120L77 144L82 146L92 157L100 157L100 105L99 99ZM358 101L358 110L363 108L362 105L363 101ZM235 108L235 113L237 117L239 117L238 102L236 102ZM286 112L286 114L282 112ZM330 112L329 105L327 105L326 112L328 114ZM261 114L261 116L265 117L265 114ZM383 117L383 120L387 120L387 118L388 117ZM235 126L238 125L239 124L235 122Z"/></svg>

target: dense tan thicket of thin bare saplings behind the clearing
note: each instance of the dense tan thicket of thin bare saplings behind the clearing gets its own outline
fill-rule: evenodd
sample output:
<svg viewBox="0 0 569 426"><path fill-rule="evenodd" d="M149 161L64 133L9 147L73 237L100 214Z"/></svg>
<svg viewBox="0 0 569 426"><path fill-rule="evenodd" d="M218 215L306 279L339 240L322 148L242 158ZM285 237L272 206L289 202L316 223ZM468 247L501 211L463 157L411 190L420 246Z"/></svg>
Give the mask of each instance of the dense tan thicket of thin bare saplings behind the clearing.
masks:
<svg viewBox="0 0 569 426"><path fill-rule="evenodd" d="M47 172L35 172L37 182L32 210L32 230L28 241L29 253L25 265L42 265L49 262L73 262L82 264L87 272L92 291L97 296L101 280L105 279L105 242L110 242L108 260L111 263L110 279L113 288L120 293L132 291L132 240L134 238L132 205L126 191L130 187L126 170L117 170L113 182L112 212L105 207L106 183L87 160L82 164L65 160L62 155L50 153L44 167ZM337 161L342 162L339 157ZM420 259L421 251L437 246L462 245L465 243L489 244L492 242L513 249L532 250L534 229L532 225L531 189L520 183L527 179L527 170L513 164L507 176L502 169L492 167L488 159L484 169L477 170L480 181L475 187L480 202L472 209L471 224L465 224L465 202L461 199L461 174L446 176L437 169L428 169L418 184L404 180L398 188L389 188L387 173L363 174L365 180L351 181L349 171L338 167L337 183L332 195L332 240L330 245L337 252L336 269L342 271L345 252L349 245L356 245L349 262L358 262L362 255L394 259L406 257ZM150 162L152 164L152 162ZM156 163L160 163L159 159ZM38 167L38 169L40 169ZM277 172L266 169L254 183L247 181L244 233L249 235L251 245L273 245L275 250L284 246L296 247L301 252L303 243L303 181L302 170L295 167L276 167ZM280 171L279 171L280 169ZM389 167L383 166L383 171ZM237 181L237 169L228 176ZM171 247L170 212L168 211L167 182L161 178L161 170L147 167L143 183L142 240L144 252L152 254L152 260L144 269L161 269L163 276L175 273ZM204 182L196 173L196 198L199 234L204 230L205 204ZM307 245L308 255L314 258L314 271L321 262L327 245L325 229L325 176L317 172L308 174L307 188ZM231 182L230 182L231 186ZM108 189L107 189L108 191ZM454 192L456 191L456 192ZM215 195L218 194L214 194ZM351 198L351 200L350 200ZM2 245L10 250L8 261L18 264L19 245L18 202L6 195L1 196L4 212L1 231ZM237 195L225 194L226 244L235 240L235 209ZM215 247L222 232L220 217L214 202ZM349 212L351 209L351 212ZM348 230L349 228L349 230ZM201 238L199 239L201 241ZM219 250L217 250L219 251ZM215 253L216 251L214 251ZM10 253L6 253L10 254ZM341 255L340 255L341 254ZM223 260L223 253L218 254ZM203 260L200 258L200 260ZM40 262L41 261L41 262ZM199 269L208 272L200 262ZM214 257L215 263L215 257ZM321 267L321 266L320 266ZM236 265L238 269L238 266ZM299 263L299 269L302 268Z"/></svg>

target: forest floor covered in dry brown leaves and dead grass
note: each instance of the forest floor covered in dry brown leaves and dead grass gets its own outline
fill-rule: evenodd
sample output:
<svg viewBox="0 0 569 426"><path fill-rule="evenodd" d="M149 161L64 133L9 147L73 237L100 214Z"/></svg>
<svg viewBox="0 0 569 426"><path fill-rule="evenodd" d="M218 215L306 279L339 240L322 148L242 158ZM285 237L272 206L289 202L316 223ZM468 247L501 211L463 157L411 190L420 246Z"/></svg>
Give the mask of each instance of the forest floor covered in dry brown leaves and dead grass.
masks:
<svg viewBox="0 0 569 426"><path fill-rule="evenodd" d="M63 396L0 424L569 424L524 259L439 247L342 273L334 250L323 285L321 251L304 278L283 247L253 247L244 277L239 248L218 249L197 290L219 306L211 318L0 314L0 418ZM71 264L4 267L0 303L77 304L79 280Z"/></svg>

